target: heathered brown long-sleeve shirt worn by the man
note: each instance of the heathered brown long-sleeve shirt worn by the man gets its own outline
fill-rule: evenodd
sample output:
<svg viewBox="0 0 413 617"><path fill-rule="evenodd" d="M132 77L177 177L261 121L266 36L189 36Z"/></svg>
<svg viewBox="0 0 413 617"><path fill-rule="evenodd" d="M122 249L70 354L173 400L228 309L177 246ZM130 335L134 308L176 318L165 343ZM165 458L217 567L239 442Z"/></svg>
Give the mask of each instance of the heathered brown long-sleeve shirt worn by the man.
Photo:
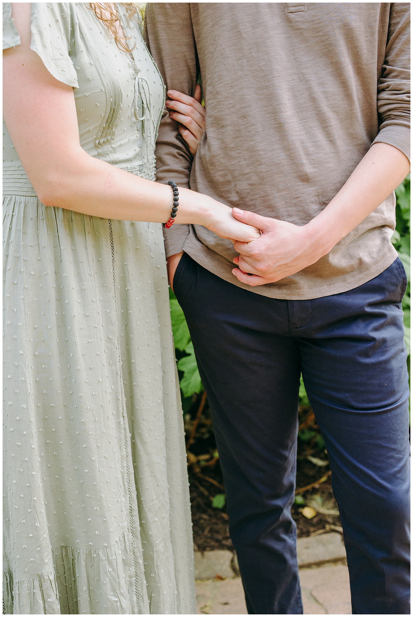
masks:
<svg viewBox="0 0 413 617"><path fill-rule="evenodd" d="M166 112L157 180L233 207L305 225L372 143L409 157L410 5L390 3L149 3L146 41L167 88L193 94L201 72L206 131L192 159ZM165 230L166 255L185 251L235 285L281 299L353 289L397 253L391 194L318 262L251 288L232 275L236 252L201 225Z"/></svg>

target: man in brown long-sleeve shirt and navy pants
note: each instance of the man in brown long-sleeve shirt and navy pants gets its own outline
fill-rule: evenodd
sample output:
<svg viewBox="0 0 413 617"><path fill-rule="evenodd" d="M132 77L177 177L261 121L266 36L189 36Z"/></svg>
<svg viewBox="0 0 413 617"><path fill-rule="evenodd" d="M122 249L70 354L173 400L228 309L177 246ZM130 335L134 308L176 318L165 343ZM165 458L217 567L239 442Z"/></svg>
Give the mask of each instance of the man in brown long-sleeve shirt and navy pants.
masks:
<svg viewBox="0 0 413 617"><path fill-rule="evenodd" d="M146 9L167 88L192 94L200 73L206 102L194 159L167 103L158 181L262 231L233 244L177 217L164 234L250 613L302 611L290 514L300 371L332 464L353 612L409 611L405 284L390 242L409 172L409 23L408 3Z"/></svg>

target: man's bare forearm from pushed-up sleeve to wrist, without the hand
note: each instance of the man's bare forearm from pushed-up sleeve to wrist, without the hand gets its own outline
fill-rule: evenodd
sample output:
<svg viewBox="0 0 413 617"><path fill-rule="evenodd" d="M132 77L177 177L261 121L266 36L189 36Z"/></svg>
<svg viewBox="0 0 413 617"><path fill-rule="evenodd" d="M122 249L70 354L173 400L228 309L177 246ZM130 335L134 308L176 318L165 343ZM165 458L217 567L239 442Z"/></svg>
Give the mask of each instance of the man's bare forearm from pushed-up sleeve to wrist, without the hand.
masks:
<svg viewBox="0 0 413 617"><path fill-rule="evenodd" d="M396 147L374 144L332 201L307 224L326 255L406 178L410 163ZM322 257L320 255L320 257Z"/></svg>

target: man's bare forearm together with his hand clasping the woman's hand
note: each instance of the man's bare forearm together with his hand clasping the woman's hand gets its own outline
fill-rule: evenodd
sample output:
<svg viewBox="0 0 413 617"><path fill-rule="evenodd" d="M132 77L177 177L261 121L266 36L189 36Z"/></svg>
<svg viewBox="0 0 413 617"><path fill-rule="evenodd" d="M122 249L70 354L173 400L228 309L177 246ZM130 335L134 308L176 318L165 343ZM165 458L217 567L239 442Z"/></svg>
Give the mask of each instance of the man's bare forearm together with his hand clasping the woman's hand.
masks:
<svg viewBox="0 0 413 617"><path fill-rule="evenodd" d="M252 287L275 283L317 262L364 220L410 171L394 146L373 144L332 201L301 227L233 208L232 215L262 231L252 242L235 242L233 275ZM250 274L249 274L250 273Z"/></svg>

